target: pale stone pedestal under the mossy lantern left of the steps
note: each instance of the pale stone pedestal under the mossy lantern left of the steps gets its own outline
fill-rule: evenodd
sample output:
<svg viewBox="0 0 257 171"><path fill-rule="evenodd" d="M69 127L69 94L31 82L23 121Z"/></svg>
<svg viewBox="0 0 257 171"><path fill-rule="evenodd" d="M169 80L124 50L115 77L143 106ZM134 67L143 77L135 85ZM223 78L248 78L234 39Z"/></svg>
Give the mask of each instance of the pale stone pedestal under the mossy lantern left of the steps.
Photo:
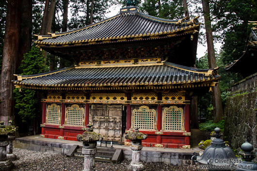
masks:
<svg viewBox="0 0 257 171"><path fill-rule="evenodd" d="M82 148L82 154L84 155L83 171L92 171L92 169L95 168L96 148Z"/></svg>

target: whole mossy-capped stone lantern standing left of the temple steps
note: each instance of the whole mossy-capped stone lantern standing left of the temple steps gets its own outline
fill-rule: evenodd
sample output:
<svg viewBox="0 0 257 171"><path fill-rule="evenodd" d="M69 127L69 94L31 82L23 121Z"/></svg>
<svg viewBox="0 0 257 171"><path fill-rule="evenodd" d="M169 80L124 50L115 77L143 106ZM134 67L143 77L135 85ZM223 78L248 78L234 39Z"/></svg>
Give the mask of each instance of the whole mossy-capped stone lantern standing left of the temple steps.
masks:
<svg viewBox="0 0 257 171"><path fill-rule="evenodd" d="M92 124L87 125L86 131L77 135L78 141L83 141L82 154L84 155L84 170L92 171L95 168L96 141L101 141L103 136L93 132Z"/></svg>

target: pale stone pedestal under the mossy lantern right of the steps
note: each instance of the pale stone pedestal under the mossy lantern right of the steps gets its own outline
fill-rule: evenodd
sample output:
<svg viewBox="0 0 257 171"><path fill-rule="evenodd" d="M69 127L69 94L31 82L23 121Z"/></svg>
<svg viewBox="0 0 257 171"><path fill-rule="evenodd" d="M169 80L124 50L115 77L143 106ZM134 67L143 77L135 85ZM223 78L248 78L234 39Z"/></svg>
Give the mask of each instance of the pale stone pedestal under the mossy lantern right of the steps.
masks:
<svg viewBox="0 0 257 171"><path fill-rule="evenodd" d="M140 160L141 150L142 150L143 146L141 144L140 145L131 144L130 148L132 150L132 161L131 161L130 165L128 165L128 170L130 170L130 171L144 170L145 166L142 164L142 162Z"/></svg>

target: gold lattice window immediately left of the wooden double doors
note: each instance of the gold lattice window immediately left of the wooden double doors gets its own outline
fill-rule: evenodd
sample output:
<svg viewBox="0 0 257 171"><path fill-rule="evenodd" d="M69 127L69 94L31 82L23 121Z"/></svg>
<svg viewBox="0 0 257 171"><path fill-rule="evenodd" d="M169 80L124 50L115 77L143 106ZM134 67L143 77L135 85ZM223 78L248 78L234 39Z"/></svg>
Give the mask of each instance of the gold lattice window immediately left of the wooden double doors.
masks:
<svg viewBox="0 0 257 171"><path fill-rule="evenodd" d="M67 107L65 111L65 125L71 126L84 126L85 114L84 108L80 108L79 105L72 105Z"/></svg>

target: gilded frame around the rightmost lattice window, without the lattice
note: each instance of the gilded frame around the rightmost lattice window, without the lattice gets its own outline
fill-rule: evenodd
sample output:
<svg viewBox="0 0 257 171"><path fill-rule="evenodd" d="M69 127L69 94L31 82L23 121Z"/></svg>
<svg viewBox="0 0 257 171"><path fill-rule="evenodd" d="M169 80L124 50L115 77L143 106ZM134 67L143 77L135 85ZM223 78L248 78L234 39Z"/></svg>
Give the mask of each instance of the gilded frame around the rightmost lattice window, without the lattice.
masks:
<svg viewBox="0 0 257 171"><path fill-rule="evenodd" d="M166 118L167 118L167 111L180 111L180 130L175 129L166 129ZM181 132L185 131L185 123L184 123L184 110L182 108L178 108L177 106L171 106L169 108L164 108L163 115L162 115L162 127L161 131L171 131L171 132Z"/></svg>

